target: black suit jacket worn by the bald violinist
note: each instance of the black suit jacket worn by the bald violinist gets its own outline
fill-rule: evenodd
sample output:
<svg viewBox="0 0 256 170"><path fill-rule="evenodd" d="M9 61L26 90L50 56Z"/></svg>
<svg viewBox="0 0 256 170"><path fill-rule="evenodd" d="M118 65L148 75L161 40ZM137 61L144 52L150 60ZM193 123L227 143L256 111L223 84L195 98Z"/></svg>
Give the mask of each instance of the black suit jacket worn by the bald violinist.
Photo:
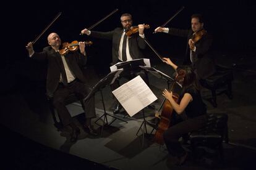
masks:
<svg viewBox="0 0 256 170"><path fill-rule="evenodd" d="M35 52L35 54L32 55L32 58L37 60L48 60L46 92L49 97L52 97L59 85L61 76L61 55L51 46L48 46L45 47L42 52ZM76 51L67 53L65 59L69 69L74 73L75 77L85 83L86 80L80 67L87 62L87 57Z"/></svg>

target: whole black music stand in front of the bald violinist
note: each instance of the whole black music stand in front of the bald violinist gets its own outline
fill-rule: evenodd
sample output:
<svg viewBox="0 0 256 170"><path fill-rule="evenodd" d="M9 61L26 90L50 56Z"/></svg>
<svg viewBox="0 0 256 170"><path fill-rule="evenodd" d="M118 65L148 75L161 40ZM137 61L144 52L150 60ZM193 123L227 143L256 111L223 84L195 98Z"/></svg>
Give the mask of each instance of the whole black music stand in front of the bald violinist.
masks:
<svg viewBox="0 0 256 170"><path fill-rule="evenodd" d="M85 99L83 99L83 102L86 102L88 99L90 99L92 97L92 95L95 95L96 92L100 91L100 94L101 94L101 100L102 100L102 104L103 104L103 110L104 110L104 113L103 115L100 116L100 118L96 119L95 123L100 120L103 116L104 116L104 119L103 119L103 125L101 127L101 136L103 135L103 128L105 126L105 121L106 121L106 124L107 125L110 125L108 124L108 118L107 116L111 116L115 119L119 119L121 121L124 121L125 123L127 123L127 121L123 120L123 119L120 119L120 118L117 118L116 116L114 115L110 115L109 113L106 113L106 108L105 108L105 102L104 102L104 99L103 99L103 93L102 93L102 89L112 83L114 83L114 81L116 80L117 76L119 76L119 74L122 72L123 70L115 70L115 71L112 71L111 73L109 73L108 75L105 76L105 78L101 79L95 86L93 86L93 89L92 91L87 95L87 97L85 97ZM113 122L112 122L113 123ZM98 123L96 123L98 124ZM98 124L100 126L100 124Z"/></svg>

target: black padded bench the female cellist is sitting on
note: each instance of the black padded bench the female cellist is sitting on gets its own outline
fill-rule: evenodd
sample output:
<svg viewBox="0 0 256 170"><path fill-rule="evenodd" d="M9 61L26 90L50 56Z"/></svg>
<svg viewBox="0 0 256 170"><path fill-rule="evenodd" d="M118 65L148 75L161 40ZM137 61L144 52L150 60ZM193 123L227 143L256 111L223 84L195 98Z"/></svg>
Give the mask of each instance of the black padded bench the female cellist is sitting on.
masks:
<svg viewBox="0 0 256 170"><path fill-rule="evenodd" d="M218 151L223 161L223 141L228 143L228 115L211 113L207 115L207 126L190 133L193 158L197 158L197 148L207 147Z"/></svg>

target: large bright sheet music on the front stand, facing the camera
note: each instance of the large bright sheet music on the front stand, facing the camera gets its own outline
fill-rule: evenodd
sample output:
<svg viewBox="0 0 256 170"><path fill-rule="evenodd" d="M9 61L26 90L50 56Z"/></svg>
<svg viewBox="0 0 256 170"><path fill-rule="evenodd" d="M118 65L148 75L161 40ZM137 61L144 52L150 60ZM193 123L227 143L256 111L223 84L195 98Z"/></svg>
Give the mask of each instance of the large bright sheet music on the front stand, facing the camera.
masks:
<svg viewBox="0 0 256 170"><path fill-rule="evenodd" d="M115 89L113 94L130 116L157 99L140 76Z"/></svg>

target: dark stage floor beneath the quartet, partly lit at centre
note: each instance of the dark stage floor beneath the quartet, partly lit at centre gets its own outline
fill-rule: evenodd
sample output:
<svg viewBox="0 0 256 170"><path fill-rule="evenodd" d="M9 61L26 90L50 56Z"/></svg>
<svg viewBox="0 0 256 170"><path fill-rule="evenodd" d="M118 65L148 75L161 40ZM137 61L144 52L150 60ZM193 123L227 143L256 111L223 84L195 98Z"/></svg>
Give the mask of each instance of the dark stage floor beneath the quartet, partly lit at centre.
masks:
<svg viewBox="0 0 256 170"><path fill-rule="evenodd" d="M253 56L247 56L241 60L241 55L220 56L218 63L226 67L232 67L234 73L233 99L230 100L225 94L217 96L218 107L214 108L208 101L211 93L203 89L202 95L208 107L208 113L226 113L229 116L228 132L230 144L223 143L224 164L218 163L216 158L203 156L198 162L191 159L181 167L184 169L246 169L252 167L256 158L256 69ZM177 59L176 62L179 62ZM236 63L234 65L234 63ZM171 75L173 71L164 63L152 65L156 69ZM93 75L95 71L88 68L90 75L90 85L93 86L108 73ZM145 108L145 118L150 121L154 118L155 112L163 101L161 92L166 88L166 81L156 76L149 75L150 89L158 97L152 104L155 109ZM122 83L126 80L122 79ZM37 82L34 82L35 84ZM30 84L31 85L31 84ZM32 85L31 85L32 86ZM103 99L106 105L106 112L113 115L115 101L109 86L103 89ZM93 137L82 130L81 120L83 120L80 103L68 105L70 112L74 116L77 126L81 129L81 134L77 142L70 142L69 134L65 131L57 131L54 127L53 118L45 99L45 94L40 88L21 89L15 93L1 95L1 124L14 132L22 134L35 142L47 147L54 148L64 153L79 156L95 163L104 164L109 168L116 169L173 169L177 166L169 161L166 147L152 142L152 136L142 136L142 131L137 131L143 121L142 111L129 117L126 111L114 115L124 119L127 123L116 120L111 126L103 129L103 137ZM103 104L100 92L95 95L96 116L99 118L103 114ZM94 121L97 119L93 119ZM112 117L107 116L110 122ZM101 127L93 126L101 132ZM102 119L98 121L101 124ZM151 126L147 126L150 132ZM143 140L144 139L144 140ZM17 141L19 145L19 141ZM20 146L22 147L22 146ZM186 146L184 146L186 147ZM189 151L189 146L186 147ZM29 149L29 148L28 148ZM210 153L209 153L210 154ZM211 154L210 154L211 155Z"/></svg>

